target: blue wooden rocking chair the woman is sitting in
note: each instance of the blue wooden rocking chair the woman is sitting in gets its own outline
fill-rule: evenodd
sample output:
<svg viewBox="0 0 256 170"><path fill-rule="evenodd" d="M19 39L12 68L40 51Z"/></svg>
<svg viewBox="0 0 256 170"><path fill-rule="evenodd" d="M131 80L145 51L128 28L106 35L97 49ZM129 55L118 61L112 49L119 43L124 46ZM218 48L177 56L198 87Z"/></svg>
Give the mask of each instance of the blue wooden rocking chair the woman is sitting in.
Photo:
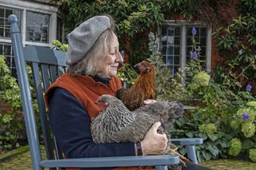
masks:
<svg viewBox="0 0 256 170"><path fill-rule="evenodd" d="M116 156L116 157L97 157L62 159L62 152L50 132L47 111L43 100L43 93L53 83L56 78L66 72L66 53L48 47L30 45L23 47L20 30L18 29L17 17L12 14L9 16L10 37L14 49L14 60L18 74L18 84L21 89L22 110L26 123L26 133L30 146L30 154L33 168L58 169L58 168L101 168L101 167L124 167L124 166L155 166L156 169L167 169L167 164L178 164L178 156ZM33 108L33 100L30 92L30 82L26 71L26 64L32 68L33 85L38 102L39 117L43 134L43 143L46 149L46 160L42 160L40 141L38 137L38 127ZM195 143L192 142L195 141ZM198 139L200 140L200 139ZM172 140L175 144L185 144L194 146L201 144L202 141L194 139ZM187 143L189 142L189 143ZM191 160L197 159L193 147L188 148ZM191 157L192 156L192 157Z"/></svg>

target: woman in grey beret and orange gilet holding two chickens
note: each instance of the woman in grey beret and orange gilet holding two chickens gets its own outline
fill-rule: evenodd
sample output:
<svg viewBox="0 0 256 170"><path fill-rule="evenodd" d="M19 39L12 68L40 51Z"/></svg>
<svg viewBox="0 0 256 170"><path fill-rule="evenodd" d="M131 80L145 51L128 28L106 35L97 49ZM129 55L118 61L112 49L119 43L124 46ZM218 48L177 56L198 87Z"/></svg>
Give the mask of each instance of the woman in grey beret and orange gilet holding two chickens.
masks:
<svg viewBox="0 0 256 170"><path fill-rule="evenodd" d="M110 16L96 16L83 22L68 36L68 72L46 92L50 126L68 158L161 154L167 146L166 134L158 134L155 123L137 144L94 144L90 120L101 110L94 101L102 94L115 96L122 88L116 77L122 55ZM150 103L150 102L149 102ZM120 169L120 168L119 168Z"/></svg>

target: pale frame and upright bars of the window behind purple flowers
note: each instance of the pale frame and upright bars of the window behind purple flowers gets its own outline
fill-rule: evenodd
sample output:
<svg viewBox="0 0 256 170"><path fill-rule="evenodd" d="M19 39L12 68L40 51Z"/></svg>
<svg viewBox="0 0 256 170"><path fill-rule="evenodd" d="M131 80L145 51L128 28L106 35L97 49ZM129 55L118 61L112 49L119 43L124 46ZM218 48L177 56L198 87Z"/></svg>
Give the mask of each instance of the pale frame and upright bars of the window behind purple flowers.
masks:
<svg viewBox="0 0 256 170"><path fill-rule="evenodd" d="M166 20L164 25L169 26L180 26L181 27L181 39L180 39L180 68L185 69L186 66L186 27L187 26L206 26L206 72L210 73L211 70L211 34L212 28L209 25L206 25L202 22L187 22L187 21L175 21L175 20ZM161 35L161 27L158 28L158 35ZM162 49L160 37L158 37L158 46L159 49ZM183 75L186 76L186 75Z"/></svg>

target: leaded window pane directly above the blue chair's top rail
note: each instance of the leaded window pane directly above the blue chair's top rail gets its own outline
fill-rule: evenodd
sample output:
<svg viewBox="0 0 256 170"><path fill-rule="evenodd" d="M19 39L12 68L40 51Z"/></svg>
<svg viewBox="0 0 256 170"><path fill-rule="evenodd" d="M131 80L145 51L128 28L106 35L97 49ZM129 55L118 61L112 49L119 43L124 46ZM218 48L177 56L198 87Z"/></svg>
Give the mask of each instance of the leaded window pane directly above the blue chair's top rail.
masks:
<svg viewBox="0 0 256 170"><path fill-rule="evenodd" d="M49 43L50 14L26 12L26 41Z"/></svg>

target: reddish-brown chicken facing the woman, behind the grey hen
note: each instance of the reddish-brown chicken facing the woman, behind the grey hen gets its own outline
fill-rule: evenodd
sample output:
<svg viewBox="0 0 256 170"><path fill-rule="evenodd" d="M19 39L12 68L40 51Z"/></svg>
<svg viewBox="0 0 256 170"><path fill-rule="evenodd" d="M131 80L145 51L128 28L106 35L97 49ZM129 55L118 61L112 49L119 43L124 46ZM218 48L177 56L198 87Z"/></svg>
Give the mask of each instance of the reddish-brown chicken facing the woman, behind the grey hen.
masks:
<svg viewBox="0 0 256 170"><path fill-rule="evenodd" d="M134 85L130 89L119 89L117 92L118 99L131 111L141 107L146 99L154 99L154 65L148 61L142 61L135 67L138 67L140 74Z"/></svg>

